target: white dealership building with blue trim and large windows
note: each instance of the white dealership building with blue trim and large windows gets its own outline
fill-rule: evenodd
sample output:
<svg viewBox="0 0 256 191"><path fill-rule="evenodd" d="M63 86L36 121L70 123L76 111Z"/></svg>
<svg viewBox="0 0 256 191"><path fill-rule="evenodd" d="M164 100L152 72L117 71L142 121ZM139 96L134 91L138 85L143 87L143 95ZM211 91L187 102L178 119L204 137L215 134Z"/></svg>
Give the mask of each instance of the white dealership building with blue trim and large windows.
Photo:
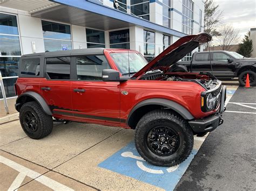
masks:
<svg viewBox="0 0 256 191"><path fill-rule="evenodd" d="M203 0L0 0L5 95L15 97L23 54L129 48L150 61L180 37L203 31L203 18ZM191 53L184 57L190 59Z"/></svg>

